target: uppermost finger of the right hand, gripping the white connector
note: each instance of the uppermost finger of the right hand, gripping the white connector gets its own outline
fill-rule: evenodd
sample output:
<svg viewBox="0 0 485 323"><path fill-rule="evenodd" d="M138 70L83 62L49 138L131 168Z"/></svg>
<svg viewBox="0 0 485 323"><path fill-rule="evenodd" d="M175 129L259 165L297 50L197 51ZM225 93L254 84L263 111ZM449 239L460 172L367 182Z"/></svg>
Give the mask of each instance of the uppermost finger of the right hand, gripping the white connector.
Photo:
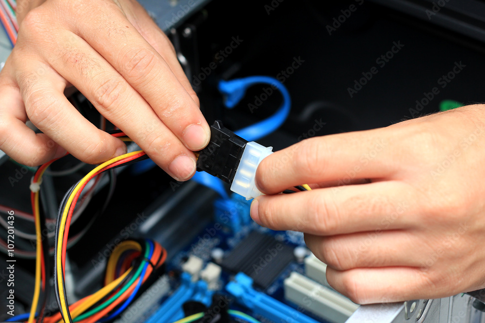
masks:
<svg viewBox="0 0 485 323"><path fill-rule="evenodd" d="M306 139L264 158L255 182L261 192L276 194L295 185L382 178L395 170L389 146L384 129Z"/></svg>

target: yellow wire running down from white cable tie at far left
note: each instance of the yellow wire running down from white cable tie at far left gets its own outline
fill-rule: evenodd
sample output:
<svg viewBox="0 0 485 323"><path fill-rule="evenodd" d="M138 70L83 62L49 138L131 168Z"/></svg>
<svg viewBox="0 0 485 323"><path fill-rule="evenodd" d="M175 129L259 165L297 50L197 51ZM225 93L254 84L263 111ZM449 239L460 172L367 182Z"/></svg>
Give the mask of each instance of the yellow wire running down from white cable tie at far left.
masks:
<svg viewBox="0 0 485 323"><path fill-rule="evenodd" d="M44 171L46 171L47 167L44 168L38 177L37 183L40 182ZM35 311L37 309L37 305L39 304L39 297L40 297L40 272L41 272L41 250L42 250L42 232L40 230L40 207L39 207L39 192L34 193L34 209L33 209L33 216L35 219L35 285L33 291L33 298L32 298L32 307L29 314L28 323L33 323L35 319ZM49 257L49 255L44 255L45 257ZM46 273L47 275L47 273ZM46 282L48 284L48 282Z"/></svg>

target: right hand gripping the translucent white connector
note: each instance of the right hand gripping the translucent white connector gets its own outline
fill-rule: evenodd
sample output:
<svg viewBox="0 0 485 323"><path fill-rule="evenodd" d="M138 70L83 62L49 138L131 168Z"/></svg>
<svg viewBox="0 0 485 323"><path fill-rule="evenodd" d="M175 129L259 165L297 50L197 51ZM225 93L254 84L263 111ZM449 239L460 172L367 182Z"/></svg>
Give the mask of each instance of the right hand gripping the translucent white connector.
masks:
<svg viewBox="0 0 485 323"><path fill-rule="evenodd" d="M359 304L485 287L485 107L311 138L265 158L251 216L305 232L328 283ZM276 194L316 183L312 191Z"/></svg>

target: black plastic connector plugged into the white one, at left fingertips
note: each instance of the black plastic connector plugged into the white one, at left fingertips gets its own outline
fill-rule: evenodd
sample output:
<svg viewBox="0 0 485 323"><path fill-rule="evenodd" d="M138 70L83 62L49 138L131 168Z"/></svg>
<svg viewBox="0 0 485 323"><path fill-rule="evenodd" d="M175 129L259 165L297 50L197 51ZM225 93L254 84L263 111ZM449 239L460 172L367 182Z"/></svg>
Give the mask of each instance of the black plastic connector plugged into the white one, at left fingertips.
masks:
<svg viewBox="0 0 485 323"><path fill-rule="evenodd" d="M247 140L237 136L216 120L210 126L210 142L199 152L197 171L206 171L231 184Z"/></svg>

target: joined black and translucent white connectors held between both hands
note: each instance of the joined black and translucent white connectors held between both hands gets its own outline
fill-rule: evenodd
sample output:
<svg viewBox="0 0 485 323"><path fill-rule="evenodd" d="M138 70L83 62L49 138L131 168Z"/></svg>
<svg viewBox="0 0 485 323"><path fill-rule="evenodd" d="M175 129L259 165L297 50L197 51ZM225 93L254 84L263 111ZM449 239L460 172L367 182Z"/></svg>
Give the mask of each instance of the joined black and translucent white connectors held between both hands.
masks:
<svg viewBox="0 0 485 323"><path fill-rule="evenodd" d="M226 183L231 191L250 200L262 195L256 187L256 169L263 158L273 154L273 147L237 136L221 121L210 126L210 142L199 152L197 171L206 171Z"/></svg>

